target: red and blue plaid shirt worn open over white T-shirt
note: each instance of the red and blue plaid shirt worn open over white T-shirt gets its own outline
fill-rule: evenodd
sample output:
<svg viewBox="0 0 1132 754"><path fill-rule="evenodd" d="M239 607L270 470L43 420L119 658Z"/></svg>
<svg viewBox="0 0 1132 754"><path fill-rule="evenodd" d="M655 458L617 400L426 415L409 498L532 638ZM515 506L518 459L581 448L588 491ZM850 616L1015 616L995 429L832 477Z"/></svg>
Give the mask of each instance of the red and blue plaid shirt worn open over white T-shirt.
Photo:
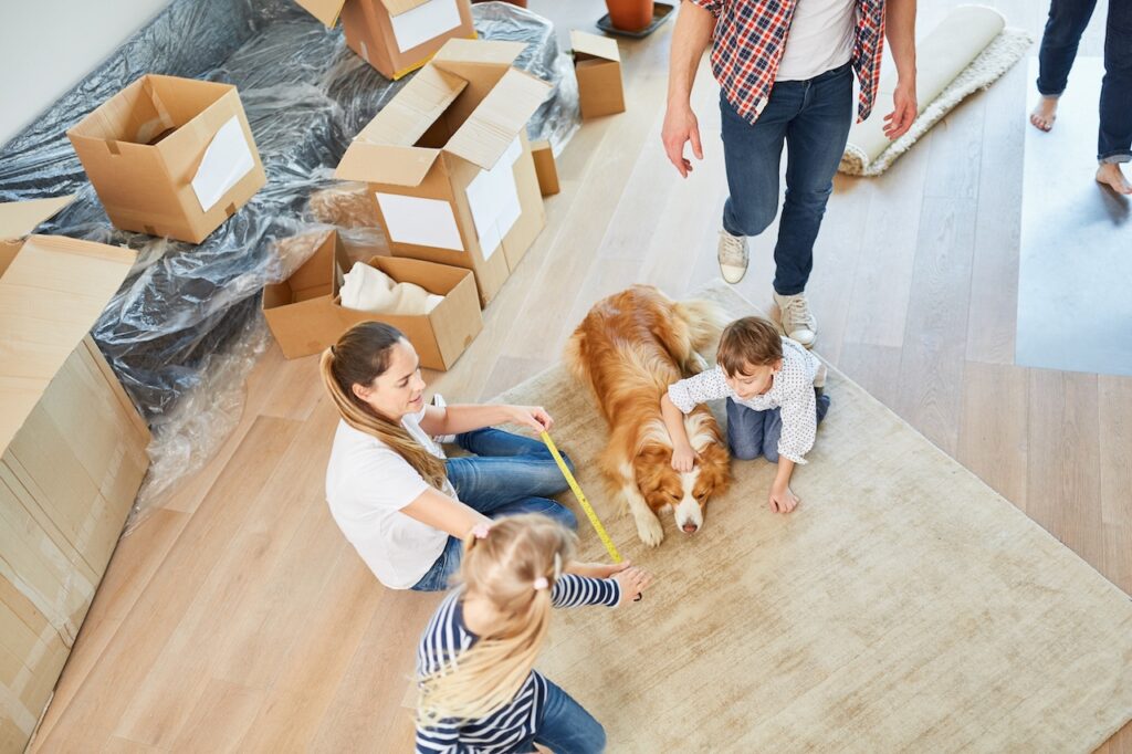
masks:
<svg viewBox="0 0 1132 754"><path fill-rule="evenodd" d="M689 0L715 17L711 67L723 95L754 123L766 106L798 0ZM852 67L860 82L858 120L873 112L884 51L884 0L857 0Z"/></svg>

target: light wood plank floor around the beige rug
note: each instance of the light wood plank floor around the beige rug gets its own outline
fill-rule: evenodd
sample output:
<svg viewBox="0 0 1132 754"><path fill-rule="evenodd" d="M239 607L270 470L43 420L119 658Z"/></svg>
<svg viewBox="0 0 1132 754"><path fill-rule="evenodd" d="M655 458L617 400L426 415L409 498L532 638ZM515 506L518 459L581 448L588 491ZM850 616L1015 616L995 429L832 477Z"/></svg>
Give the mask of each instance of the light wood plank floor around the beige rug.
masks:
<svg viewBox="0 0 1132 754"><path fill-rule="evenodd" d="M950 5L921 2L921 25ZM1040 33L1045 3L995 5ZM603 12L600 0L532 7L564 32ZM1098 26L1081 54L1100 54ZM679 295L717 275L715 88L702 71L707 158L680 181L659 144L670 33L621 45L628 112L569 145L547 230L483 334L434 376L449 400L551 365L606 293L652 282ZM1132 379L1012 366L1024 71L971 97L883 178L838 179L809 286L818 351L1132 591ZM770 242L754 249L739 289L769 307ZM331 520L335 417L314 359L273 349L248 394L216 459L118 548L36 748L409 748L401 703L437 598L383 589ZM1132 752L1132 732L1103 751Z"/></svg>

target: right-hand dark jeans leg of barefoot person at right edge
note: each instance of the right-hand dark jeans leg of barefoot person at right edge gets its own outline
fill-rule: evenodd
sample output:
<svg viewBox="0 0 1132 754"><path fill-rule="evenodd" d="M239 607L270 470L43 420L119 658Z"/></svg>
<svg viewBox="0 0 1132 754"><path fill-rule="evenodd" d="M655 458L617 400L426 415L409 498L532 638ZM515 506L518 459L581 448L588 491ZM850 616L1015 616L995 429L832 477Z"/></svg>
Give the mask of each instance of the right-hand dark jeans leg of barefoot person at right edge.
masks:
<svg viewBox="0 0 1132 754"><path fill-rule="evenodd" d="M1132 2L1130 0L1108 0L1097 158L1100 162L1132 161Z"/></svg>

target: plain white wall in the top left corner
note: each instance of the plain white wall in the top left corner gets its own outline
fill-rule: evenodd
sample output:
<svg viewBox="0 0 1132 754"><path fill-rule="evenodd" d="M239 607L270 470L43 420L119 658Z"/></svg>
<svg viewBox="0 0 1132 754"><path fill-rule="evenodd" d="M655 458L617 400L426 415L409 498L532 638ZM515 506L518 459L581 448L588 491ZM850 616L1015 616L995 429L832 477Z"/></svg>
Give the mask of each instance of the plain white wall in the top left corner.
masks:
<svg viewBox="0 0 1132 754"><path fill-rule="evenodd" d="M0 144L32 122L169 0L0 0Z"/></svg>

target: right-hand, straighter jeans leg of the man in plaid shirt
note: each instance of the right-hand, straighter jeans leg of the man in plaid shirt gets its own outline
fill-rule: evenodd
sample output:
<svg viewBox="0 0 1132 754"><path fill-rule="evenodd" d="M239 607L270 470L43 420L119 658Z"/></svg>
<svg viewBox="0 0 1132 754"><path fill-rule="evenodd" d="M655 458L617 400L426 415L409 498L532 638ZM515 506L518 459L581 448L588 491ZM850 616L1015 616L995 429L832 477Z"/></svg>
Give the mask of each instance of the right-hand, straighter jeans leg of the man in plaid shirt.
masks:
<svg viewBox="0 0 1132 754"><path fill-rule="evenodd" d="M774 246L779 295L806 290L814 267L814 241L852 126L852 69L848 65L800 84L806 86L804 104L786 130L786 199Z"/></svg>

